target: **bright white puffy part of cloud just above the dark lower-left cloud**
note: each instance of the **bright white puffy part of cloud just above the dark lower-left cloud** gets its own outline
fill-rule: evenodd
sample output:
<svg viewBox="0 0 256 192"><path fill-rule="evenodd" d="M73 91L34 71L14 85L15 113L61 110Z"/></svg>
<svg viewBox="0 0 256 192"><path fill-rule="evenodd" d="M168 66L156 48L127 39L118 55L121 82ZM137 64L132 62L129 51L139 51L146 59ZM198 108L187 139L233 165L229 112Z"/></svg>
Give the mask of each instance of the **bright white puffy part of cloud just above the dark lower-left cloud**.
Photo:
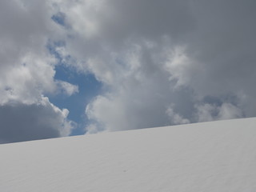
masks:
<svg viewBox="0 0 256 192"><path fill-rule="evenodd" d="M32 53L20 58L19 63L1 73L1 104L9 100L24 103L36 102L43 93L51 93L55 89L54 61L49 55L39 57Z"/></svg>

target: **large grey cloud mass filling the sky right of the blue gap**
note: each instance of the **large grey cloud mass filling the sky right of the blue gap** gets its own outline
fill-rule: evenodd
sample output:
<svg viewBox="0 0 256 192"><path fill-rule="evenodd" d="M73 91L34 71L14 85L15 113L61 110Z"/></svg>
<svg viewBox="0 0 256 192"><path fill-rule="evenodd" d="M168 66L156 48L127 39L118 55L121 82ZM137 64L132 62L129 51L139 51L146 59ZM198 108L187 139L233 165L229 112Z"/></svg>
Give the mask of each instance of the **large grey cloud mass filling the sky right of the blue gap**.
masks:
<svg viewBox="0 0 256 192"><path fill-rule="evenodd" d="M72 36L65 49L78 61L70 65L107 87L86 108L99 130L256 114L255 2L98 0L60 7Z"/></svg>

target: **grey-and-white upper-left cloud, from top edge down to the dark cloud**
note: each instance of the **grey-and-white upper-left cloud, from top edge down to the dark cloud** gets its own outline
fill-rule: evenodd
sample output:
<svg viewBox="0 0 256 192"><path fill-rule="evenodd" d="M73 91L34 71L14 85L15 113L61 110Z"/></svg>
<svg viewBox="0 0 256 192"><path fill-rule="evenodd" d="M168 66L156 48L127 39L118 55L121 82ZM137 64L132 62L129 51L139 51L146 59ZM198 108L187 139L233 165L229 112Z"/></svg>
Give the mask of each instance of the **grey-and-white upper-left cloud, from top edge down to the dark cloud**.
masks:
<svg viewBox="0 0 256 192"><path fill-rule="evenodd" d="M42 94L53 94L58 85L72 94L69 83L54 81L57 60L46 49L50 38L62 36L62 30L51 20L53 11L50 1L1 2L0 104L12 100L34 103Z"/></svg>

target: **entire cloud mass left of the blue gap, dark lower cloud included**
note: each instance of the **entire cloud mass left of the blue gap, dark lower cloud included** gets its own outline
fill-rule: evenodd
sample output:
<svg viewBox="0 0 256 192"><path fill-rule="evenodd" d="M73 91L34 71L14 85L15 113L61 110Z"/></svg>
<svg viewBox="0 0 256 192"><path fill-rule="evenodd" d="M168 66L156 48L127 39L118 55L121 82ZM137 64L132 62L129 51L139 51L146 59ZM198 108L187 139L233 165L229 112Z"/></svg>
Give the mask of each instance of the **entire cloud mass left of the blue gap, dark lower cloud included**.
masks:
<svg viewBox="0 0 256 192"><path fill-rule="evenodd" d="M20 142L66 136L74 128L68 110L44 96L78 87L54 78L58 60L47 50L62 37L50 1L0 2L0 140Z"/></svg>

